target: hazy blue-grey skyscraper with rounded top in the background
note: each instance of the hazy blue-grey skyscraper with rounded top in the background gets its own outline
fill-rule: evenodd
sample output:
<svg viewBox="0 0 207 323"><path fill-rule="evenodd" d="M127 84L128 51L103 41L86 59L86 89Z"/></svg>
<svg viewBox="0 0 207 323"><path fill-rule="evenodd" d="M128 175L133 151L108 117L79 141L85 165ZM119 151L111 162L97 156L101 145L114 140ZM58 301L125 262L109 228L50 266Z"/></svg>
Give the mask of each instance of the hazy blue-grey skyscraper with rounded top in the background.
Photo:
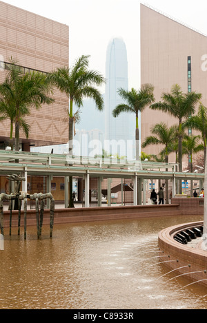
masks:
<svg viewBox="0 0 207 323"><path fill-rule="evenodd" d="M106 53L106 93L105 93L105 138L106 140L132 139L132 115L128 113L120 114L119 117L112 116L112 110L120 103L124 103L120 98L117 90L122 87L128 90L128 60L126 45L123 39L112 39L107 48ZM119 147L120 148L120 147ZM119 152L111 147L110 153L124 154L126 156L125 147L121 147Z"/></svg>

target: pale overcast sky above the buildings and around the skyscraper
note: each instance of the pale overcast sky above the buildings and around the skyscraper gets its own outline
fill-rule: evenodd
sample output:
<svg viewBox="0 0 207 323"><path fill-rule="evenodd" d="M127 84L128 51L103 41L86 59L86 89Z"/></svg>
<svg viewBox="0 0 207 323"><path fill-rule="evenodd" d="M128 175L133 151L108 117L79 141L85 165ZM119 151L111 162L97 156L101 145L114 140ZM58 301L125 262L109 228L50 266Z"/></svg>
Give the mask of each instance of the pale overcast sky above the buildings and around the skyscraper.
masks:
<svg viewBox="0 0 207 323"><path fill-rule="evenodd" d="M66 23L70 28L70 64L89 54L90 67L105 76L106 48L112 37L122 37L128 52L129 87L139 88L140 2L207 34L204 0L5 0L13 6ZM207 53L207 44L206 44ZM204 54L206 54L204 53Z"/></svg>

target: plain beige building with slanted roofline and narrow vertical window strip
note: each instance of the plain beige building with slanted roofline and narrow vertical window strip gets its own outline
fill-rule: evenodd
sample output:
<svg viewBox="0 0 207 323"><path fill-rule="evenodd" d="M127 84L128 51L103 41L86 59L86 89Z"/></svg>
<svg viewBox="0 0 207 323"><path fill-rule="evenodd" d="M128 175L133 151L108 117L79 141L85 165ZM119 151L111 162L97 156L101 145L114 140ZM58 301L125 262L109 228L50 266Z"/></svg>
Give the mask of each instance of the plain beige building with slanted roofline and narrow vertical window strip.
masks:
<svg viewBox="0 0 207 323"><path fill-rule="evenodd" d="M202 94L207 107L207 37L188 26L141 5L141 83L155 85L155 100L179 84L183 92ZM205 56L206 55L206 56ZM157 123L178 124L177 119L149 108L141 114L141 140L150 136ZM159 154L155 145L144 149L147 154ZM170 155L170 161L175 155Z"/></svg>

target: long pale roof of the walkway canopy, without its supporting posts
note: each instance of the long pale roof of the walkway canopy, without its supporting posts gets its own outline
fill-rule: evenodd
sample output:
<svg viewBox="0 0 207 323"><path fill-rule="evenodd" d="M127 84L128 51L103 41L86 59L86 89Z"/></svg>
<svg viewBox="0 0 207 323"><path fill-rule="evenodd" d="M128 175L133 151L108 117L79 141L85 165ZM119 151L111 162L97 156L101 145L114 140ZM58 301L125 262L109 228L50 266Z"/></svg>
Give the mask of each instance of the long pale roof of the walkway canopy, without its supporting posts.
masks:
<svg viewBox="0 0 207 323"><path fill-rule="evenodd" d="M19 163L15 163L15 161ZM204 174L178 173L175 163L151 163L113 158L69 157L58 154L0 150L0 175L27 171L36 176L204 180ZM168 171L166 171L166 169Z"/></svg>

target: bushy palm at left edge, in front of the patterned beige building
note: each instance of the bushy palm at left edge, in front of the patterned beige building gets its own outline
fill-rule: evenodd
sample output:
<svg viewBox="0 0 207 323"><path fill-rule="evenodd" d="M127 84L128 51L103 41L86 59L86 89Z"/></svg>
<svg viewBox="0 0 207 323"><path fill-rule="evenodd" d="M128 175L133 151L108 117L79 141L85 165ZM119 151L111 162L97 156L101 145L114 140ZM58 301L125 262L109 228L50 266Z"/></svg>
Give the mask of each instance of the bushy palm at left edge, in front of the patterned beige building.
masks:
<svg viewBox="0 0 207 323"><path fill-rule="evenodd" d="M22 116L30 114L30 109L39 109L54 100L49 96L52 88L46 75L27 72L19 68L17 61L10 59L10 70L6 80L0 84L0 99L15 110L15 150L19 151L19 129L23 125ZM11 116L11 115L10 115ZM26 128L25 128L26 129Z"/></svg>

